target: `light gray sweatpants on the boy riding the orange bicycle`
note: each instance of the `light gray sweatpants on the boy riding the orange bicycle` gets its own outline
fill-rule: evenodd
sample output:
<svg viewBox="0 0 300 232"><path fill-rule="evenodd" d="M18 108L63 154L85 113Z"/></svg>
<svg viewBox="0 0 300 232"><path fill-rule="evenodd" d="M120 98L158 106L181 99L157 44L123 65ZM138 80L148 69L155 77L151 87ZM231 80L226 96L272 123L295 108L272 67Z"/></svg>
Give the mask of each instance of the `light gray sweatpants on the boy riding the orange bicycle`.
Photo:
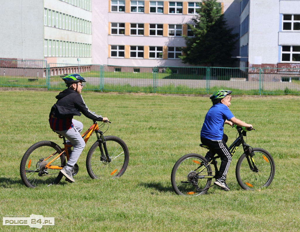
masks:
<svg viewBox="0 0 300 232"><path fill-rule="evenodd" d="M83 129L83 124L75 119L72 119L74 127L66 131L56 131L62 136L67 138L67 143L73 145L73 150L69 154L69 160L67 162L67 169L71 169L76 164L81 152L85 147L85 141L80 135L80 132Z"/></svg>

